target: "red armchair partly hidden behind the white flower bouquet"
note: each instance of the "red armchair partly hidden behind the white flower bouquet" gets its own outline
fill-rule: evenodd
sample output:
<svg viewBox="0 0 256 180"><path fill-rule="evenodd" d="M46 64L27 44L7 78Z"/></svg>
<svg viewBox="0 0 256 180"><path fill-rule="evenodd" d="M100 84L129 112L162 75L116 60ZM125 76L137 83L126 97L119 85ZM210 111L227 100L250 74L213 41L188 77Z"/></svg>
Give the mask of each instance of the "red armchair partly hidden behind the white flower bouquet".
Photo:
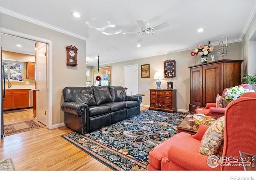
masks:
<svg viewBox="0 0 256 180"><path fill-rule="evenodd" d="M238 87L240 86L242 86L244 89L252 90L252 86L250 86L250 84L240 84ZM227 89L229 88L223 90L223 94L227 91ZM205 108L196 108L196 113L204 114L206 116L221 117L224 116L225 110L226 108L217 108L215 102L208 102L206 103Z"/></svg>

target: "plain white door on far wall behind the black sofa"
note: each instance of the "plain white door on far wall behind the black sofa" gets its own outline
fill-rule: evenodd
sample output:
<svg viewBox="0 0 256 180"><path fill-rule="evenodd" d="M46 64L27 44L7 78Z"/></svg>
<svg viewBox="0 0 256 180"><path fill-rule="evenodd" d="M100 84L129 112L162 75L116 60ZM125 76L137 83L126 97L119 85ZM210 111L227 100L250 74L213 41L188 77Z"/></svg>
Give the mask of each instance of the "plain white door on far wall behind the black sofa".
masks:
<svg viewBox="0 0 256 180"><path fill-rule="evenodd" d="M124 87L128 96L138 94L138 64L124 66Z"/></svg>

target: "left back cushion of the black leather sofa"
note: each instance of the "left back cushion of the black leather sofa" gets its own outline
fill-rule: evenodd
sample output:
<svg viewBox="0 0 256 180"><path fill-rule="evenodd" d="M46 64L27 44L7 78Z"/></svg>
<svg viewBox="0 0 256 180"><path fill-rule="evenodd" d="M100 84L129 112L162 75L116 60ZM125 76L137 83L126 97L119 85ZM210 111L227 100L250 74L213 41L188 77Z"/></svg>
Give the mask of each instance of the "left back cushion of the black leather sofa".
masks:
<svg viewBox="0 0 256 180"><path fill-rule="evenodd" d="M92 87L66 87L62 90L64 102L72 101L96 106Z"/></svg>

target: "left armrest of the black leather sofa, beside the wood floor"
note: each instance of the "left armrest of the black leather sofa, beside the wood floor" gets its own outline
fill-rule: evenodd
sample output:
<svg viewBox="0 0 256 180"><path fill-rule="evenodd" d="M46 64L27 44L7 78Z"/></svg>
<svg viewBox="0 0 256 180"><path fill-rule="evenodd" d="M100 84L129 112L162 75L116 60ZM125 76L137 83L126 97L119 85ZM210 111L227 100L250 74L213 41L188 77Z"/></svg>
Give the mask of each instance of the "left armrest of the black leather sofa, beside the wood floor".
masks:
<svg viewBox="0 0 256 180"><path fill-rule="evenodd" d="M86 111L89 111L89 107L85 103L77 103L77 102L64 102L61 106L62 111L68 112L70 114L74 114L76 116L81 116L81 108L86 108Z"/></svg>

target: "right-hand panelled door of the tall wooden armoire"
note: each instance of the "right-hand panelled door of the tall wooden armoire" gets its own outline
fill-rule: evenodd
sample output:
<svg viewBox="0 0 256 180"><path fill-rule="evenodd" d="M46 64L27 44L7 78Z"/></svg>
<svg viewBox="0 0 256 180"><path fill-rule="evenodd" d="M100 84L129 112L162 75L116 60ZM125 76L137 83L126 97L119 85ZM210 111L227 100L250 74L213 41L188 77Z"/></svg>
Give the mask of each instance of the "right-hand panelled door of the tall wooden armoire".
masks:
<svg viewBox="0 0 256 180"><path fill-rule="evenodd" d="M220 64L202 67L202 106L216 102L217 94L220 94Z"/></svg>

